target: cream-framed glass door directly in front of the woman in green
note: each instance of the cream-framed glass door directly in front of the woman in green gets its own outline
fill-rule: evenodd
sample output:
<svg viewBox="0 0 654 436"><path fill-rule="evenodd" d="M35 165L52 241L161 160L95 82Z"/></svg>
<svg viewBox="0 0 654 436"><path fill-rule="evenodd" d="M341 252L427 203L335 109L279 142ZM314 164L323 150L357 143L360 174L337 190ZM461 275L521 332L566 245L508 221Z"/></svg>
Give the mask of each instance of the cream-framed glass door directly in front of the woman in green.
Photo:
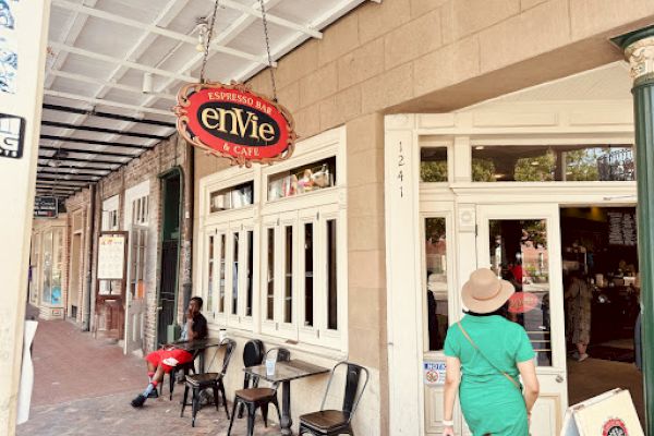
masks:
<svg viewBox="0 0 654 436"><path fill-rule="evenodd" d="M536 351L534 436L558 434L568 403L559 229L556 204L477 206L477 265L513 283L508 318Z"/></svg>

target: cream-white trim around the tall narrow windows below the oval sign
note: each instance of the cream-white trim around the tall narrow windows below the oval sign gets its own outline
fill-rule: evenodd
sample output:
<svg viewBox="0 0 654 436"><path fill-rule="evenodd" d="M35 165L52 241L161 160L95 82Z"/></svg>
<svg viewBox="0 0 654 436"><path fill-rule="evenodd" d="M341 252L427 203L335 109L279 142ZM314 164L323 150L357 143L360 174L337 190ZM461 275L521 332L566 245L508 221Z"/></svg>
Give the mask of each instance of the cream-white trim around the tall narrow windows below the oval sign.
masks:
<svg viewBox="0 0 654 436"><path fill-rule="evenodd" d="M237 167L207 175L199 181L199 228L198 234L198 253L202 253L203 259L199 266L195 269L196 278L203 283L203 292L206 293L207 283L207 253L205 245L208 244L209 234L220 234L222 230L227 230L227 264L233 251L233 231L241 233L240 245L240 263L245 264L246 246L245 235L249 229L254 231L254 254L253 263L256 268L253 270L253 316L244 316L245 311L245 268L239 268L239 314L231 315L231 284L232 274L229 270L226 277L226 313L215 313L209 324L213 328L234 328L243 330L244 334L252 332L254 335L263 334L277 338L278 340L292 339L304 343L314 349L336 349L347 351L347 322L348 322L348 276L347 276L347 162L346 162L346 129L339 128L328 132L324 132L317 136L302 142L300 147L296 147L295 155L283 162L276 164L271 167L255 166L250 169L241 169ZM299 194L296 196L277 198L267 201L268 177L278 172L287 171L292 168L308 165L329 157L336 156L336 180L335 186L324 190ZM254 185L254 204L252 206L242 207L239 209L221 210L210 213L210 195L211 192L235 186L249 181ZM325 205L326 208L325 208ZM312 219L311 216L322 210L319 219L312 220L314 226L314 326L305 327L304 319L304 271L302 257L303 253L299 249L301 246L301 235L303 235L303 226ZM337 283L338 283L338 330L328 330L327 327L327 290L326 284L320 284L318 268L320 258L324 255L318 253L318 247L323 245L320 241L326 238L326 218L331 216L337 219ZM279 226L277 225L279 218ZM284 271L283 261L278 259L278 256L283 255L283 223L293 226L293 303L292 303L292 323L283 323L283 292L284 292ZM274 225L274 226L272 226ZM268 322L264 319L266 314L266 267L267 267L267 228L274 227L276 232L276 283L275 283L275 320ZM324 228L324 229L323 229ZM214 233L216 232L216 233ZM320 237L320 232L325 235ZM303 237L302 237L303 238ZM322 238L322 239L320 239ZM219 239L216 240L216 253L214 271L216 280L214 286L214 305L219 299ZM326 262L324 262L326 265ZM197 265L197 264L196 264ZM302 267L302 268L301 268ZM324 272L326 274L326 271ZM197 277L198 276L198 277ZM324 295L318 298L319 292ZM322 300L324 302L322 302ZM228 303L229 302L229 303ZM208 312L216 311L215 307L208 308Z"/></svg>

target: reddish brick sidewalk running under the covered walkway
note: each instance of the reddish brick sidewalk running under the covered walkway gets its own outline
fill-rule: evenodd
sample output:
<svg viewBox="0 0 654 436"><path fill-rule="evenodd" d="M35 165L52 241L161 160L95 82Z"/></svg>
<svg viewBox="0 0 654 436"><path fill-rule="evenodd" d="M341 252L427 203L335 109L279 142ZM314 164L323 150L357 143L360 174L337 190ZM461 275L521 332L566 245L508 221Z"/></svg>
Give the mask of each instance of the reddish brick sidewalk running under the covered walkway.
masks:
<svg viewBox="0 0 654 436"><path fill-rule="evenodd" d="M143 360L124 355L118 346L100 337L94 339L69 322L39 320L33 353L32 409L29 421L16 429L19 436L227 434L229 421L222 407L220 411L213 405L203 408L195 428L191 427L190 407L180 417L181 386L172 401L164 395L133 409L130 401L147 383ZM165 383L167 392L168 378ZM232 435L245 434L246 420L234 421ZM264 427L257 412L255 435L278 434L274 425Z"/></svg>

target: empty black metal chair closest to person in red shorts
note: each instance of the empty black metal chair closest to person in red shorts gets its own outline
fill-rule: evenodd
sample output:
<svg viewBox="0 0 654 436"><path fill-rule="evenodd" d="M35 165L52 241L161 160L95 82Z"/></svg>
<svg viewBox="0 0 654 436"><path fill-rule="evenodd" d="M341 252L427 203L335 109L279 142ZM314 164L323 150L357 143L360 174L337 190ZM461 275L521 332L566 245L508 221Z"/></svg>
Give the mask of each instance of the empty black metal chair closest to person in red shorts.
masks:
<svg viewBox="0 0 654 436"><path fill-rule="evenodd" d="M227 398L225 396L225 385L222 379L227 374L227 368L229 366L229 362L231 356L237 349L237 342L232 339L223 339L220 342L220 348L225 347L225 355L222 358L222 368L219 373L204 373L204 374L193 374L186 376L186 386L184 387L184 399L182 400L182 411L180 416L184 416L184 409L187 405L189 399L189 390L193 389L193 398L192 398L192 410L193 410L193 420L191 421L191 425L195 427L195 416L197 415L197 411L199 410L199 395L205 389L211 389L214 391L214 402L216 404L216 410L218 409L218 392L222 396L222 404L225 405L225 413L227 413L227 417L229 419L229 411L227 410ZM210 364L209 364L210 366Z"/></svg>

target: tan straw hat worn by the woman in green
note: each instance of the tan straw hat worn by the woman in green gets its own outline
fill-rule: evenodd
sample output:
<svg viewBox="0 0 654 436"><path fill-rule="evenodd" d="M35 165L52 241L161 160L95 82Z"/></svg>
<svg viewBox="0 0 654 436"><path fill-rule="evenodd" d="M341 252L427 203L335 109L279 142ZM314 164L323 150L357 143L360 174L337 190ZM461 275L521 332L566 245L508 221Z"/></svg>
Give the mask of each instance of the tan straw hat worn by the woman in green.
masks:
<svg viewBox="0 0 654 436"><path fill-rule="evenodd" d="M488 268L480 268L470 275L461 289L463 304L475 313L497 311L516 292L513 284L498 279Z"/></svg>

